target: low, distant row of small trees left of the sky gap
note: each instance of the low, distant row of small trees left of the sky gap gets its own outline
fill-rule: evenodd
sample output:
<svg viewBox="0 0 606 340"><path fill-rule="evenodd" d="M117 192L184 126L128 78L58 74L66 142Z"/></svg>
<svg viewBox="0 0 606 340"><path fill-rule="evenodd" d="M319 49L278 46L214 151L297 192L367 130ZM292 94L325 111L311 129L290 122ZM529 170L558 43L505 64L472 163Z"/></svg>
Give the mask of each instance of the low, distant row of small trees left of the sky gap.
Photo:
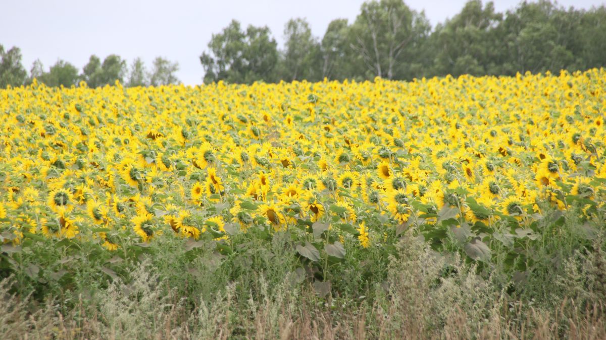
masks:
<svg viewBox="0 0 606 340"><path fill-rule="evenodd" d="M179 83L179 79L175 76L179 64L163 57L156 57L150 70L145 67L141 58L133 60L128 67L126 60L116 54L110 54L102 62L93 54L82 71L61 59L45 71L44 65L38 59L33 62L29 73L21 64L21 57L21 50L18 47L5 51L0 45L0 88L5 88L7 85L12 87L29 85L33 79L50 87L61 85L71 87L78 85L82 80L88 87L93 88L113 85L116 80L128 87Z"/></svg>

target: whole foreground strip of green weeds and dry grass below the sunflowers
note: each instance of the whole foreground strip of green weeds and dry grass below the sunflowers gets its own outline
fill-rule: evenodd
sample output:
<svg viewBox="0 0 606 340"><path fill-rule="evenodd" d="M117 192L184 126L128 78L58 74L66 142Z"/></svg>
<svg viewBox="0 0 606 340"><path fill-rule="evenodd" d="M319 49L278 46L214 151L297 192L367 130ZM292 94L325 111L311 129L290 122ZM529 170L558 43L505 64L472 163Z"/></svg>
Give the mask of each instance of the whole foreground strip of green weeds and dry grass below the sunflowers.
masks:
<svg viewBox="0 0 606 340"><path fill-rule="evenodd" d="M291 255L287 233L243 244L227 257L204 244L193 256L166 240L141 261L121 263L113 280L99 280L99 264L82 259L73 260L81 267L71 285L44 294L10 276L0 289L0 333L7 339L603 339L606 232L594 223L588 241L575 236L582 233L574 223L559 226L559 237L545 229L525 273L507 272L499 256L479 266L457 252L436 252L411 228L395 255L333 270L332 278L343 275L351 284L334 280L325 297L313 285L317 273ZM355 280L351 273L364 266L374 275Z"/></svg>

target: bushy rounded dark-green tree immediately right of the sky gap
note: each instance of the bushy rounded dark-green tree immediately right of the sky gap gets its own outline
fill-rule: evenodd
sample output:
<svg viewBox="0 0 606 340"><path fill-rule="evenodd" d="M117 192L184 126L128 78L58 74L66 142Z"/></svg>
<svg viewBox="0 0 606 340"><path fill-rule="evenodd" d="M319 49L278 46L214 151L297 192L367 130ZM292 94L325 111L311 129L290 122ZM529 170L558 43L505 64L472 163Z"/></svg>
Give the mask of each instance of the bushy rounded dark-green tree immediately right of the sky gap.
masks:
<svg viewBox="0 0 606 340"><path fill-rule="evenodd" d="M226 80L232 83L252 83L256 80L276 80L278 44L270 37L267 27L248 26L242 31L236 20L213 34L208 43L209 53L202 53L204 82Z"/></svg>

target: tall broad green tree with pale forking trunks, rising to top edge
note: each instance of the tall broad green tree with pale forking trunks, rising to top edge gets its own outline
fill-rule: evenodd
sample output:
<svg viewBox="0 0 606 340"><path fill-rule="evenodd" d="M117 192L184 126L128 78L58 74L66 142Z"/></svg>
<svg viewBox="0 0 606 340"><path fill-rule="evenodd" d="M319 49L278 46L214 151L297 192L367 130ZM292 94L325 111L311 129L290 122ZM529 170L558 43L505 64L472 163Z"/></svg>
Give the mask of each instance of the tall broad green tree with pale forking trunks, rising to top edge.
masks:
<svg viewBox="0 0 606 340"><path fill-rule="evenodd" d="M429 31L425 14L402 0L364 2L351 26L351 47L361 56L367 76L410 79L419 71Z"/></svg>

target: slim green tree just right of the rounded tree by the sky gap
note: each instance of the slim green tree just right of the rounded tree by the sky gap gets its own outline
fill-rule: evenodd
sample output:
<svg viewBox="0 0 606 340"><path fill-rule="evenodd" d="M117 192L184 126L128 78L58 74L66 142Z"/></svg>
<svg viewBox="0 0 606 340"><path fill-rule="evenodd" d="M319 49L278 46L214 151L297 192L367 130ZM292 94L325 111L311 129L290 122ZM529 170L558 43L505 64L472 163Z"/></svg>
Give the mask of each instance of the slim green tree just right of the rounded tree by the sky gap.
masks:
<svg viewBox="0 0 606 340"><path fill-rule="evenodd" d="M321 76L319 42L305 19L290 19L284 27L282 79L317 81Z"/></svg>

